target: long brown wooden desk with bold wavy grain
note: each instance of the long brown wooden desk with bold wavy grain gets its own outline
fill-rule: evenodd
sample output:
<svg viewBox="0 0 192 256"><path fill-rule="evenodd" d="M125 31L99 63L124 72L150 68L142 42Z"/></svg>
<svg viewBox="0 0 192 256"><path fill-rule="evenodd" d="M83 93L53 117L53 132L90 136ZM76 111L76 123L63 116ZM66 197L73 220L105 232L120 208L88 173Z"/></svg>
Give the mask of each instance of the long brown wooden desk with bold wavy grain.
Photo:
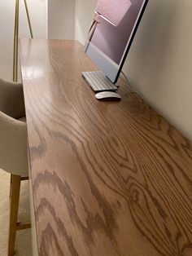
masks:
<svg viewBox="0 0 192 256"><path fill-rule="evenodd" d="M39 255L192 255L192 147L120 82L99 102L75 41L21 40Z"/></svg>

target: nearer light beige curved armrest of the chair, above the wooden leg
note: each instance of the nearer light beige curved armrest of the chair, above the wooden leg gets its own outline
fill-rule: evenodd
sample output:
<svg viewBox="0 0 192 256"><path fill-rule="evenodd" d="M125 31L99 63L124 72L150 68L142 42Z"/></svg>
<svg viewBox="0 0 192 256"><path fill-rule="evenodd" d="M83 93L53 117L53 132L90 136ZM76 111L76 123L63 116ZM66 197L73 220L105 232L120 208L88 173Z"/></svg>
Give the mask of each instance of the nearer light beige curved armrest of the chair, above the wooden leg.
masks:
<svg viewBox="0 0 192 256"><path fill-rule="evenodd" d="M0 168L28 176L27 126L0 112Z"/></svg>

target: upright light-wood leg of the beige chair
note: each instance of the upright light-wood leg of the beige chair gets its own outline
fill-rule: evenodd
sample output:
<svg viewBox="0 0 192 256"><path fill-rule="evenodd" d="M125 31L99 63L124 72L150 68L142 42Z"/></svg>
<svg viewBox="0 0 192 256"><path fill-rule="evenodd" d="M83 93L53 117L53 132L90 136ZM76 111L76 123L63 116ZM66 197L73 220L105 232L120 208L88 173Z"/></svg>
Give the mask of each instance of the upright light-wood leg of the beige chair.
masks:
<svg viewBox="0 0 192 256"><path fill-rule="evenodd" d="M11 175L11 209L8 256L15 254L15 236L17 229L17 215L20 201L20 176Z"/></svg>

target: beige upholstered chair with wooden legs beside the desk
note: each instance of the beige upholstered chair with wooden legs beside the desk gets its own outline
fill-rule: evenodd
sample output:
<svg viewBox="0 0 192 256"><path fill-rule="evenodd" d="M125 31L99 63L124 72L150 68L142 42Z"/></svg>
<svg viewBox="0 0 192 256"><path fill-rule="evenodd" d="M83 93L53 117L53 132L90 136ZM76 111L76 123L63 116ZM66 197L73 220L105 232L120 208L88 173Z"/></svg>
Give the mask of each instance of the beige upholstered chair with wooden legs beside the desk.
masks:
<svg viewBox="0 0 192 256"><path fill-rule="evenodd" d="M30 227L30 223L17 223L20 181L28 179L27 127L24 115L22 84L0 78L0 168L11 174L9 256L15 254L16 231Z"/></svg>

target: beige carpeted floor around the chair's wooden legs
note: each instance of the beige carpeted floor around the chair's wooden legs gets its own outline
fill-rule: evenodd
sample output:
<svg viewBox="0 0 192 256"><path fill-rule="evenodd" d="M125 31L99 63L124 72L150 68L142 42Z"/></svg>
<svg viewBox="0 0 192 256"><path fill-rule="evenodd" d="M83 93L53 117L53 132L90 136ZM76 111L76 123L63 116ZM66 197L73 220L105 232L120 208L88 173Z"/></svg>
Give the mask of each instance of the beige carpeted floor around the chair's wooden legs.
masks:
<svg viewBox="0 0 192 256"><path fill-rule="evenodd" d="M0 256L7 255L9 230L9 188L10 174L0 170ZM28 181L23 181L20 192L19 221L30 219ZM31 256L31 230L17 232L15 241L16 256Z"/></svg>

